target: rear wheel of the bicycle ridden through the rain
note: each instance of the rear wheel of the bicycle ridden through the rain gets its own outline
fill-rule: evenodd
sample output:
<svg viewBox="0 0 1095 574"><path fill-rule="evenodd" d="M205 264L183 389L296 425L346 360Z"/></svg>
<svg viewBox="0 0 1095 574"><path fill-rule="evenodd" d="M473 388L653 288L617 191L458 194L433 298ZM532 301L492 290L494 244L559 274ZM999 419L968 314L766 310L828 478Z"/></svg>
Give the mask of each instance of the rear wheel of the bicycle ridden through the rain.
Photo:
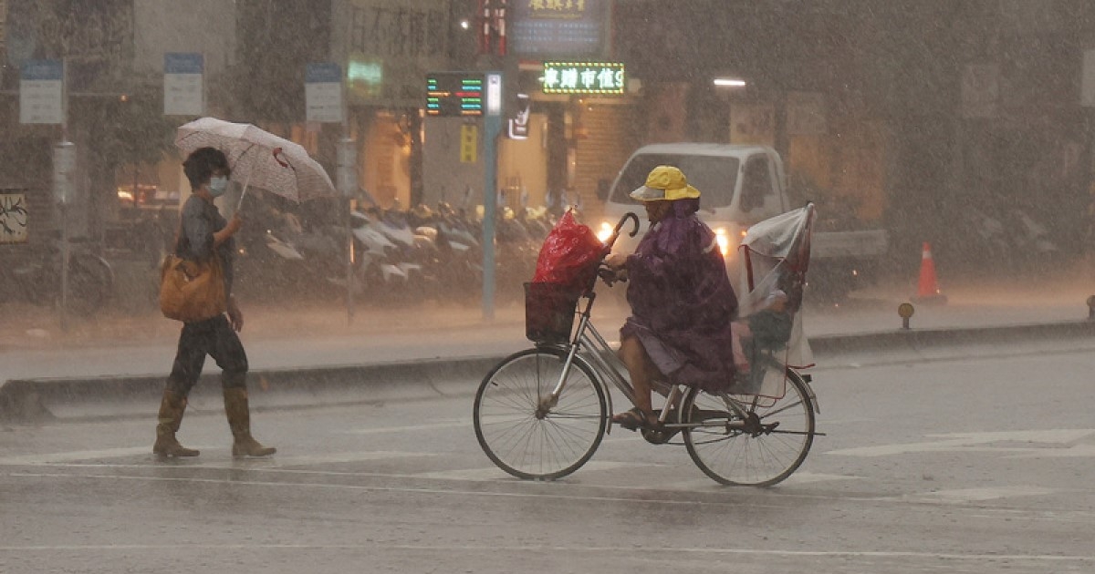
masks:
<svg viewBox="0 0 1095 574"><path fill-rule="evenodd" d="M700 426L684 429L684 445L700 470L723 484L771 487L803 464L814 444L814 403L798 373L786 373L781 399L689 391L681 412Z"/></svg>

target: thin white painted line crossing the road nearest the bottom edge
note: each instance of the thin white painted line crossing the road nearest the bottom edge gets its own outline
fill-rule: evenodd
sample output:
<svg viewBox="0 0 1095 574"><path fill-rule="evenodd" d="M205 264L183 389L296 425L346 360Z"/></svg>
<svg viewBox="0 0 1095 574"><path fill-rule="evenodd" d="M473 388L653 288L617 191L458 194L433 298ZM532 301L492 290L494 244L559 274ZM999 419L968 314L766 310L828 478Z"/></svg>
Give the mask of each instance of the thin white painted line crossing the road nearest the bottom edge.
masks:
<svg viewBox="0 0 1095 574"><path fill-rule="evenodd" d="M393 544L391 542L357 542L353 544L55 544L55 546L0 546L0 552L87 552L87 551L157 551L157 550L206 550L206 551L239 551L239 550L351 550L377 548L383 550L427 550L436 552L466 552L474 555L488 555L494 552L532 552L538 554L557 552L590 552L634 554L634 547L579 546L579 544L525 544L525 546L468 546L468 544ZM911 551L860 551L860 550L762 550L753 548L701 548L701 547L645 547L653 554L708 554L708 555L757 555L757 557L817 557L837 559L912 559L912 560L952 560L973 562L1042 562L1042 563L1095 563L1095 555L1062 555L1062 554L957 554L947 552L911 552Z"/></svg>

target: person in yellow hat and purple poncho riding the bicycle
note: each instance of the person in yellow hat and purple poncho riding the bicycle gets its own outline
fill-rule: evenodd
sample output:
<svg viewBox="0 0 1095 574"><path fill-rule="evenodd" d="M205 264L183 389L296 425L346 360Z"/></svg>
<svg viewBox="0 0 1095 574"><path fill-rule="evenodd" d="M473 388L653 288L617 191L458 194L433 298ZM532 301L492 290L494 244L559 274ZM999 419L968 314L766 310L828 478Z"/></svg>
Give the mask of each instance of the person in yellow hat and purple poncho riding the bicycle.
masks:
<svg viewBox="0 0 1095 574"><path fill-rule="evenodd" d="M631 192L650 229L632 255L604 262L626 278L632 315L620 329L619 355L635 389L635 408L612 422L630 430L657 426L653 383L726 389L734 380L730 324L737 295L715 233L696 216L700 190L677 167L659 165Z"/></svg>

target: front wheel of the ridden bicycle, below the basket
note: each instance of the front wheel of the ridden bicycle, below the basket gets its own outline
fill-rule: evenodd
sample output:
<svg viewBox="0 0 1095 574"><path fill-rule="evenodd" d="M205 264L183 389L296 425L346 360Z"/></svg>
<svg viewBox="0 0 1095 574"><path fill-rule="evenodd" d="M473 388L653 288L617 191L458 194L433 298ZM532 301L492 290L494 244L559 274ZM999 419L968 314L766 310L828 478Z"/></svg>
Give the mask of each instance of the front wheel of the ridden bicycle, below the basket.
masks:
<svg viewBox="0 0 1095 574"><path fill-rule="evenodd" d="M475 437L498 468L522 479L554 480L586 464L604 437L604 390L575 358L556 401L551 393L564 349L529 349L494 367L475 394Z"/></svg>

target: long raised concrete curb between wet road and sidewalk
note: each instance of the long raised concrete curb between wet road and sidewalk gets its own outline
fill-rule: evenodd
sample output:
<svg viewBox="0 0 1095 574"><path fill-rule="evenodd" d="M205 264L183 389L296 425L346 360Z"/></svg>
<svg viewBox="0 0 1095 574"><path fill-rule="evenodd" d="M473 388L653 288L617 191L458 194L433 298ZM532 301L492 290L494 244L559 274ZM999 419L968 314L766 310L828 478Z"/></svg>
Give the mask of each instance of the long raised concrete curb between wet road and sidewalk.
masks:
<svg viewBox="0 0 1095 574"><path fill-rule="evenodd" d="M1095 338L1095 321L829 335L810 339L810 347L815 356L838 358L1083 338ZM249 389L256 410L466 396L508 354L256 370L251 372ZM192 393L192 408L198 412L221 409L219 380L217 373L203 375ZM163 375L8 380L0 384L0 422L152 417L163 384Z"/></svg>

